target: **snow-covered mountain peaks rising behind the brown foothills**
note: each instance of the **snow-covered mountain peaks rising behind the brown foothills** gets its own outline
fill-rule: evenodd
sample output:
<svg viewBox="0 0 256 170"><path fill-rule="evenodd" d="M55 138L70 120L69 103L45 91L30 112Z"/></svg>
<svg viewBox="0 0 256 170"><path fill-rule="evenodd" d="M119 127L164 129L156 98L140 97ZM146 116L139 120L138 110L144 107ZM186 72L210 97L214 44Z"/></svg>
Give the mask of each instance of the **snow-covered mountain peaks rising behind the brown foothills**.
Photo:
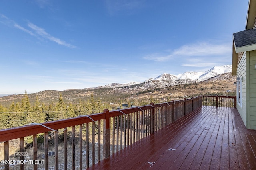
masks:
<svg viewBox="0 0 256 170"><path fill-rule="evenodd" d="M224 65L224 66L215 66L211 68L210 70L204 71L204 72L184 72L182 74L173 75L164 73L156 78L149 78L148 80L144 81L144 88L148 87L163 87L168 85L177 85L177 84L184 84L184 83L191 83L194 81L204 81L209 78L218 76L219 74L228 73L231 72L232 66L231 65ZM111 83L107 84L105 86L100 86L97 88L104 88L104 87L111 87L111 88L118 88L118 87L124 87L124 86L131 86L140 84L143 82L130 82L125 84L120 83Z"/></svg>

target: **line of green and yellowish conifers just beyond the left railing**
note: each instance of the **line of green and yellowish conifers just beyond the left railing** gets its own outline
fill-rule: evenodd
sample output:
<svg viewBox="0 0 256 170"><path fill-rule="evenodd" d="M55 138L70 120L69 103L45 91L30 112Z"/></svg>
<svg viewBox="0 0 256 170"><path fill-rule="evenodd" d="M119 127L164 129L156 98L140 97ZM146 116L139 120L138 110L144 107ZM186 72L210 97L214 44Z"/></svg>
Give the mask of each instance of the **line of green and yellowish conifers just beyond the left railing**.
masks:
<svg viewBox="0 0 256 170"><path fill-rule="evenodd" d="M9 107L4 107L0 104L0 129L101 113L104 109L122 109L122 103L126 103L129 106L143 106L150 104L150 102L157 103L159 101L153 98L136 100L119 98L115 100L113 105L113 103L102 102L100 99L95 100L92 93L90 99L79 100L74 103L64 102L60 93L58 102L51 102L50 104L40 103L38 97L36 97L35 102L32 104L25 91L24 97L20 102L12 102Z"/></svg>

